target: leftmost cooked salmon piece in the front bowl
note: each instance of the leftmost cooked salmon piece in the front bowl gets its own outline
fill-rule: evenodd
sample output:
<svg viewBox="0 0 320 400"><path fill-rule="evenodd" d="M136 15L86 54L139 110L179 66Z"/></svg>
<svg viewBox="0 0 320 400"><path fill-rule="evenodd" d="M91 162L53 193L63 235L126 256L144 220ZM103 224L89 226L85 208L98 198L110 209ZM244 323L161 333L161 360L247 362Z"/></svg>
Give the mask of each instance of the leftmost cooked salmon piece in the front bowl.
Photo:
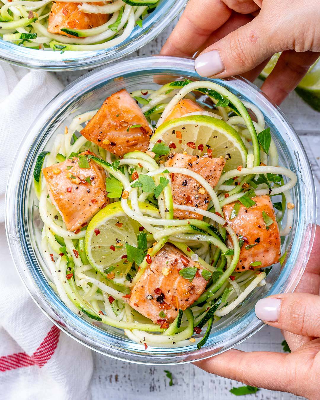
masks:
<svg viewBox="0 0 320 400"><path fill-rule="evenodd" d="M95 155L89 151L81 153L86 154ZM88 160L89 168L80 168L78 163L79 156L75 156L42 170L50 200L70 231L86 226L110 202L104 169L93 160Z"/></svg>

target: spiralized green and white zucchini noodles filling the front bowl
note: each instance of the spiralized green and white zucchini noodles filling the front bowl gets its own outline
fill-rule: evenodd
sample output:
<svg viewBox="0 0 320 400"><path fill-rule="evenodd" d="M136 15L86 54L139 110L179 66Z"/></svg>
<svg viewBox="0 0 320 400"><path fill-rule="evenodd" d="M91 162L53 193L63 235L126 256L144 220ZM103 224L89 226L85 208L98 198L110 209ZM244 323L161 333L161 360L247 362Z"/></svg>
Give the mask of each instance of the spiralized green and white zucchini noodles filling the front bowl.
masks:
<svg viewBox="0 0 320 400"><path fill-rule="evenodd" d="M31 4L25 3L34 4L34 2L22 1L19 2L23 3L20 6L16 3L10 3L13 4L13 8L5 3L2 6L3 14L6 10L14 9L16 13L24 16L22 12L24 8L31 7ZM42 3L44 4L43 1ZM122 2L117 0L101 7L87 3L84 1L81 6L86 12L96 12L97 9L101 12L101 7L104 7L106 12L110 12L112 9L113 12L117 13L118 9L116 8L121 6ZM125 10L129 11L126 21L133 18L133 13L137 12L139 8L127 4ZM121 24L122 22L124 21L121 20ZM39 24L39 22L34 23L34 25L36 24ZM35 30L38 29L38 32L44 35L44 25L40 24L39 26L42 28L39 30L36 27ZM127 26L129 26L129 23ZM93 36L87 36L86 40L90 38L93 38ZM64 40L64 43L67 43L69 39L65 38ZM143 88L131 95L140 99L141 96L145 96L146 101L142 111L148 118L150 126L154 128L165 120L180 99L194 99L196 94L199 93L202 96L206 94L212 100L211 110L206 111L207 115L225 120L240 134L248 149L247 167L223 173L215 188L212 188L200 174L190 169L164 167L148 152L148 154L138 151L128 153L123 158L118 159L118 167L114 167L112 162L116 160L116 157L113 154L92 142L88 142L81 135L79 137L78 132L96 114L97 110L74 117L64 134L61 133L56 136L50 154L46 155L44 161L45 166L51 166L57 163L59 157L63 160L64 157L70 157L72 153L85 150L95 152L99 158L93 157L93 160L98 162L107 174L116 178L123 186L124 192L127 192L127 196L122 196L120 199L122 210L147 231L148 254L150 256L154 256L167 242L170 242L191 257L192 260L196 260L208 272L219 272L216 279L209 280L206 290L198 300L183 314L182 311L181 314L179 312L176 320L168 328L168 333L159 325L146 320L126 302L125 296L138 282L145 269L148 268L146 259L140 265L132 266L130 279L122 276L117 278L116 284L112 280L106 279L103 274L97 274L97 271L88 262L84 251L83 238L86 234L86 228L82 228L78 233L68 231L58 209L48 198L48 190L44 180L38 180L40 185L40 189L38 188L40 190L39 214L44 224L41 246L48 266L48 270L45 272L52 282L52 287L72 311L85 318L94 319L95 324L106 324L123 329L128 338L144 344L145 347L148 345L157 347L190 346L191 343L188 339L194 334L194 327L202 327L208 324L204 335L197 334L196 344L200 348L208 339L212 326L214 327L220 318L241 307L242 302L254 290L258 290L256 288L266 283L266 273L262 270L235 272L240 254L239 238L223 218L222 207L224 205L238 200L246 190L254 189L256 196L270 194L271 190L272 196L282 196L282 204L284 204L277 215L281 236L287 235L292 226L293 209L286 208L286 203L292 201L290 189L296 184L297 178L289 169L278 166L278 153L272 139L268 154L260 148L257 132L260 133L265 129L265 121L263 114L254 104L241 102L222 86L207 81L190 82L183 80L171 82L156 91ZM230 101L228 107L219 105L216 107L218 101L224 98L228 98ZM208 103L206 105L208 107ZM255 114L256 122L252 121L247 109ZM263 160L265 165L260 165L260 160ZM139 187L136 187L137 180L132 179L133 170L137 170L139 174L152 177L156 185L159 184L160 177L169 180L158 199L154 198L152 193L142 192ZM170 180L172 173L184 174L199 182L199 186L202 186L210 197L208 210L173 203L172 182ZM281 182L275 181L272 188L264 182L254 184L260 174L281 176ZM233 183L226 183L231 178ZM244 183L246 183L245 186L243 186ZM117 202L119 199L111 198L110 201ZM156 206L156 213L149 212L147 214L144 211L145 209L142 209L141 204ZM196 212L203 216L203 220L175 219L173 216L174 209ZM283 218L284 214L286 214L286 218ZM232 242L233 254L228 254L229 247L226 242L226 234ZM66 254L62 253L62 256L59 256L61 246L65 248ZM223 255L223 253L226 253L226 255ZM79 256L76 256L76 254L79 254ZM57 261L53 262L51 256L54 256ZM67 261L66 256L69 261ZM66 274L69 276L67 280L65 279Z"/></svg>

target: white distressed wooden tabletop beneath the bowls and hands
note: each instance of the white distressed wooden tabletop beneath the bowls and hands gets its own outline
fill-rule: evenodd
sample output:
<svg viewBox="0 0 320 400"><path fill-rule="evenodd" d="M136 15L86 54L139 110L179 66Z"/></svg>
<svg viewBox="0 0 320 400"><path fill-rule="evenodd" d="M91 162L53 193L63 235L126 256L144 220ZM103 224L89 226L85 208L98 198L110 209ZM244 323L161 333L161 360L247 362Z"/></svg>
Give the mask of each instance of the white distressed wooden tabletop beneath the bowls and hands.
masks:
<svg viewBox="0 0 320 400"><path fill-rule="evenodd" d="M173 26L173 25L172 25ZM158 54L162 44L172 30L172 26L132 56ZM87 71L57 72L56 76L68 84ZM256 84L260 82L257 81ZM307 106L296 93L290 94L281 106L288 117L308 153L314 172L317 192L320 189L320 114ZM318 208L320 205L318 204ZM318 213L319 215L319 213ZM320 223L320 217L318 217ZM283 340L280 331L265 326L252 338L238 346L244 351L265 350L282 351ZM169 386L164 370L170 370L173 375L173 386ZM129 364L94 353L94 373L91 381L92 400L162 400L162 399L192 399L220 400L236 399L229 392L233 386L242 386L238 382L210 375L192 364L181 366L144 366ZM246 399L259 400L289 400L296 396L260 390Z"/></svg>

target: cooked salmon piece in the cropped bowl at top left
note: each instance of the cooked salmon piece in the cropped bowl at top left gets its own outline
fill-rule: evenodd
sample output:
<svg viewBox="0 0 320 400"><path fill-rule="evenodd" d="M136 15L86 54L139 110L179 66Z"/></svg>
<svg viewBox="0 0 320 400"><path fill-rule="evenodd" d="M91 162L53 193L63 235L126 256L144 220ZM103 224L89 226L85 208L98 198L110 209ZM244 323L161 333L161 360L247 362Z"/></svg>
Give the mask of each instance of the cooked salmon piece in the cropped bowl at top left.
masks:
<svg viewBox="0 0 320 400"><path fill-rule="evenodd" d="M109 19L109 14L87 14L78 9L82 3L62 3L53 2L50 15L48 32L74 37L66 34L61 29L90 29L105 24ZM102 5L102 2L88 4Z"/></svg>

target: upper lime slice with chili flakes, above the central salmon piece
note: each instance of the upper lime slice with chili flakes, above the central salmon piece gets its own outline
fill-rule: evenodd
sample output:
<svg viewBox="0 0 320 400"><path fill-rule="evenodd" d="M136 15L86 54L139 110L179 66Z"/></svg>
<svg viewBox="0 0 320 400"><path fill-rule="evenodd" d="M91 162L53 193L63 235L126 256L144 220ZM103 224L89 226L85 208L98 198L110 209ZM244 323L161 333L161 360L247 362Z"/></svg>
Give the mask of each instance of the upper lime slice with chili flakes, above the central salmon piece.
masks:
<svg viewBox="0 0 320 400"><path fill-rule="evenodd" d="M176 132L181 132L181 139ZM226 171L239 165L246 166L247 150L238 132L226 122L211 116L192 115L164 122L150 139L150 148L158 140L171 144L170 147L177 153L186 151L187 154L198 156L207 152L208 145L212 149L212 157L226 158Z"/></svg>

